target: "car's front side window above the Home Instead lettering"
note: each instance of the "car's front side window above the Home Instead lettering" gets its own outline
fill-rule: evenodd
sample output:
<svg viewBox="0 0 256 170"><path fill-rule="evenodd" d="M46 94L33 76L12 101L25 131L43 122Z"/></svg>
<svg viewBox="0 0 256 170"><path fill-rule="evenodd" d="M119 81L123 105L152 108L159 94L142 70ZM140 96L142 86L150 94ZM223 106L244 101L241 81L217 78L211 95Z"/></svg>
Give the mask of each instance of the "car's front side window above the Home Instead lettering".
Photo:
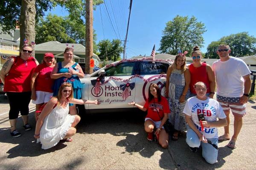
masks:
<svg viewBox="0 0 256 170"><path fill-rule="evenodd" d="M105 76L130 76L133 75L135 62L121 62L115 67L105 69Z"/></svg>

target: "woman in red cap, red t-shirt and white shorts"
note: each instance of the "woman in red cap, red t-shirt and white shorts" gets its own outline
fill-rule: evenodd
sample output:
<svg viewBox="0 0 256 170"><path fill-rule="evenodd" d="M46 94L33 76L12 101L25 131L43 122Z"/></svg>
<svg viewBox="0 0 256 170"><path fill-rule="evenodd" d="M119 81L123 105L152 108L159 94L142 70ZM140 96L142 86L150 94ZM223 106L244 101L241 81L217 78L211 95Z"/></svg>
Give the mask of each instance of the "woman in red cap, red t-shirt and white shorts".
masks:
<svg viewBox="0 0 256 170"><path fill-rule="evenodd" d="M54 79L51 79L51 72L55 66L55 59L52 53L45 53L42 64L38 65L31 77L32 103L35 104L35 111L53 95L52 86ZM35 121L38 119L38 113L35 113Z"/></svg>

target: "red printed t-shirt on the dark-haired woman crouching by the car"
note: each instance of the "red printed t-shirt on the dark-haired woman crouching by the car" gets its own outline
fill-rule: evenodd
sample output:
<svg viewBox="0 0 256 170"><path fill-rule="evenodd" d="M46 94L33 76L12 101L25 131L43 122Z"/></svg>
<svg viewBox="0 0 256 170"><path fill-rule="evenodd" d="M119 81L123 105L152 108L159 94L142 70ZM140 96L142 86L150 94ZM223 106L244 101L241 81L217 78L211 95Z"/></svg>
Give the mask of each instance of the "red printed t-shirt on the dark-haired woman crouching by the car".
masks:
<svg viewBox="0 0 256 170"><path fill-rule="evenodd" d="M155 122L163 119L164 113L170 113L168 101L163 96L161 96L160 102L158 102L157 98L152 99L150 102L147 100L144 108L148 109L148 114L146 117L152 119Z"/></svg>

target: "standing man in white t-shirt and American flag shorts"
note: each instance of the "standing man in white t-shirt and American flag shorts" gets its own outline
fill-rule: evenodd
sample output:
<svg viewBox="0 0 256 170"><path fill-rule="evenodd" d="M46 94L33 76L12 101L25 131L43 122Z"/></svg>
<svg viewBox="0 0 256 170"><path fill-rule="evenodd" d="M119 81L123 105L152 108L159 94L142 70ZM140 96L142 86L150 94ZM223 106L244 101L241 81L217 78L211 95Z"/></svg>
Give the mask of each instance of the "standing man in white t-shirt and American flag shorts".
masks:
<svg viewBox="0 0 256 170"><path fill-rule="evenodd" d="M236 139L242 127L242 117L246 113L251 80L250 70L245 62L236 57L230 57L229 45L219 45L217 54L220 59L212 64L216 78L217 101L220 103L227 116L227 126L224 127L224 135L219 136L219 141L230 140L229 124L230 109L234 115L234 134L227 144L230 148L236 148Z"/></svg>

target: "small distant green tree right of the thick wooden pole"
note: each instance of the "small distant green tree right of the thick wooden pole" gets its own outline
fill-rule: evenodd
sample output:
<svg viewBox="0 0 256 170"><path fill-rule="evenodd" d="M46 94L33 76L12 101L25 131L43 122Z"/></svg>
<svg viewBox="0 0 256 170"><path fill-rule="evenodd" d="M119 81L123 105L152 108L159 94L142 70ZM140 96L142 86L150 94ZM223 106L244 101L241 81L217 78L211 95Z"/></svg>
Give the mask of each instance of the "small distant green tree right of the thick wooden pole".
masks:
<svg viewBox="0 0 256 170"><path fill-rule="evenodd" d="M121 53L123 51L122 42L118 39L113 39L112 42L110 40L101 40L98 43L99 47L99 57L103 60L118 61L121 59Z"/></svg>

